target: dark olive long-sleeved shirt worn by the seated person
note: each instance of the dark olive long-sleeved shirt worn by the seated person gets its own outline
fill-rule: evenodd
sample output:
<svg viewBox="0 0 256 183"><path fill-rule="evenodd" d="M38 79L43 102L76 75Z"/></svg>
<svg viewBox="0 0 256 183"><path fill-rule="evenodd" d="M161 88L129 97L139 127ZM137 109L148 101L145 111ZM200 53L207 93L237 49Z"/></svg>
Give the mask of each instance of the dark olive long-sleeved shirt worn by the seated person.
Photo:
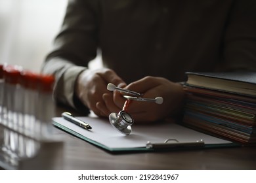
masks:
<svg viewBox="0 0 256 183"><path fill-rule="evenodd" d="M72 0L42 71L54 99L75 107L74 84L102 52L127 84L186 71L256 70L255 0Z"/></svg>

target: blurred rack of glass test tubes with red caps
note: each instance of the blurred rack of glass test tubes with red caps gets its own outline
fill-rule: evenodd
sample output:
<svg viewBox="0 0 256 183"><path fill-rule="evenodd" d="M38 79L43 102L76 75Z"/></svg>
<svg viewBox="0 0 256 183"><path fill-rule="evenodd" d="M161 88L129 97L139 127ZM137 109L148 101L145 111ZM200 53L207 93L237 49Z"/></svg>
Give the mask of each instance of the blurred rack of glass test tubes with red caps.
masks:
<svg viewBox="0 0 256 183"><path fill-rule="evenodd" d="M51 118L54 77L0 65L0 169L62 169Z"/></svg>

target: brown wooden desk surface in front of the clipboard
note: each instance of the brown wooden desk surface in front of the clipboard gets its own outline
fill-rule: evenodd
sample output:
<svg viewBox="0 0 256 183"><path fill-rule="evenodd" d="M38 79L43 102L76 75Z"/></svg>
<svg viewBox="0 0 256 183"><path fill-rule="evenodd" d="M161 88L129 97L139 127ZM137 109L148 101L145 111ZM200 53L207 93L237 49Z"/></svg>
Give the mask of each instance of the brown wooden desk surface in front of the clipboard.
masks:
<svg viewBox="0 0 256 183"><path fill-rule="evenodd" d="M59 116L63 112L60 108ZM63 169L256 169L256 146L110 154L60 129Z"/></svg>

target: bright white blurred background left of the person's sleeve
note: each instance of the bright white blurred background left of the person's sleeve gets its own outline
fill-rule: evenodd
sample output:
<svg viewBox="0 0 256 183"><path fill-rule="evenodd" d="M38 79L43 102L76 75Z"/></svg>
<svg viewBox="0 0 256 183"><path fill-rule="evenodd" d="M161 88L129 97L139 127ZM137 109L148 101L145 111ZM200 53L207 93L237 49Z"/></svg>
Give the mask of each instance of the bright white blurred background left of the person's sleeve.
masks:
<svg viewBox="0 0 256 183"><path fill-rule="evenodd" d="M67 0L0 0L0 63L39 72Z"/></svg>

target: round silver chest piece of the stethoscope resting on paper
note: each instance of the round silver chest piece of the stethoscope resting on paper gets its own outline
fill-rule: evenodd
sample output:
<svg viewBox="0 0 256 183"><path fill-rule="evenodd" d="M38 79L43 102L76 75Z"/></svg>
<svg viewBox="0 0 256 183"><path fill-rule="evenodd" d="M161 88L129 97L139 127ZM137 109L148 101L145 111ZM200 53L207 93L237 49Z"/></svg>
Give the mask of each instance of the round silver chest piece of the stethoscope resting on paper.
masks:
<svg viewBox="0 0 256 183"><path fill-rule="evenodd" d="M112 112L109 116L110 124L117 129L120 133L129 135L131 133L131 125L133 125L133 117L121 110L118 114Z"/></svg>

